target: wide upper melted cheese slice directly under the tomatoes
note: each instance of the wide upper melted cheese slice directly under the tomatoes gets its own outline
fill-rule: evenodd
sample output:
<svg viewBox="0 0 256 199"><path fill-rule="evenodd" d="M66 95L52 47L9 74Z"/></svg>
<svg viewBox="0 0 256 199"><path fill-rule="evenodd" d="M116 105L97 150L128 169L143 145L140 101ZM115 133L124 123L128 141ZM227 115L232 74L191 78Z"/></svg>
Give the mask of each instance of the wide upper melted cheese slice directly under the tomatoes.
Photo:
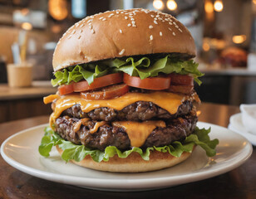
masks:
<svg viewBox="0 0 256 199"><path fill-rule="evenodd" d="M58 96L56 98L57 102L55 111L52 114L52 119L57 119L64 110L71 108L71 106L75 104L80 104L81 110L88 113L93 109L101 107L121 110L137 101L152 102L160 106L162 109L166 109L170 114L175 114L180 104L182 104L185 99L196 99L196 97L197 95L186 96L162 91L156 91L153 93L127 93L126 95L122 95L118 98L99 100L82 99L79 94L62 95L61 97Z"/></svg>

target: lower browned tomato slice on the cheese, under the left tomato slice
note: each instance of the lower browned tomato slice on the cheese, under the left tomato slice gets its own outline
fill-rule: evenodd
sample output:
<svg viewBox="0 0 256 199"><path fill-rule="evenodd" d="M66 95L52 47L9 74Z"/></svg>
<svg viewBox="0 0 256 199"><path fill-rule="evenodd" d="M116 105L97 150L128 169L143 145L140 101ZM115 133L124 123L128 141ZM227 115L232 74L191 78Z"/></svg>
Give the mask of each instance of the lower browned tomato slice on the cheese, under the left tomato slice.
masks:
<svg viewBox="0 0 256 199"><path fill-rule="evenodd" d="M81 92L80 96L84 99L112 99L125 95L129 91L129 86L125 84L121 85L109 85L101 90Z"/></svg>

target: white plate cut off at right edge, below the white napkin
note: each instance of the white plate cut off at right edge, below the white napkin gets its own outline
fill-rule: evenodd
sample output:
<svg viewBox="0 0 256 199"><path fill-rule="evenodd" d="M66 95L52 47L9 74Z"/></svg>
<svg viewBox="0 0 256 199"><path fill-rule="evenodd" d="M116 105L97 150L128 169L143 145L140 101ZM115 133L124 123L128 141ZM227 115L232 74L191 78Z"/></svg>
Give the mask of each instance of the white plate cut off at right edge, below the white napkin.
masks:
<svg viewBox="0 0 256 199"><path fill-rule="evenodd" d="M229 129L243 135L250 143L256 146L256 134L249 133L242 122L242 114L234 114L229 119Z"/></svg>

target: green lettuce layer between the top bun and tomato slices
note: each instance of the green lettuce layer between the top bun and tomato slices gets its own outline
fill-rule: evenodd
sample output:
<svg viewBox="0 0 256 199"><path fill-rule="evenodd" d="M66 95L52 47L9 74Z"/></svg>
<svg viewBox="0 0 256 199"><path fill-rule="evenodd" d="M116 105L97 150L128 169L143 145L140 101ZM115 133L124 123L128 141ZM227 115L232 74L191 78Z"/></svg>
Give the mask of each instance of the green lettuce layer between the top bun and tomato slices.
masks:
<svg viewBox="0 0 256 199"><path fill-rule="evenodd" d="M52 80L52 85L68 85L71 81L77 82L80 80L87 80L91 85L96 77L116 72L124 72L131 76L140 76L143 80L147 77L154 77L159 73L177 73L180 75L192 75L194 80L201 85L198 79L204 74L198 70L198 64L193 60L179 61L172 56L165 56L164 58L151 59L142 57L135 59L133 57L127 58L125 61L121 59L114 59L109 61L101 61L96 64L84 64L74 67L68 67L62 71L57 71L55 79Z"/></svg>

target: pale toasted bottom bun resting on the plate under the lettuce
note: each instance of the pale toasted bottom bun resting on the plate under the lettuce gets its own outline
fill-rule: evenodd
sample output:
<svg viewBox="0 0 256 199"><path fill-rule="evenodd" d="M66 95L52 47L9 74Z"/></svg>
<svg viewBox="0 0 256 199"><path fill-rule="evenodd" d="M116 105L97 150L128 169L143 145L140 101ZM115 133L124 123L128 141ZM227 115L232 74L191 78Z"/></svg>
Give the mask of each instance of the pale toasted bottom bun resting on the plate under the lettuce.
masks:
<svg viewBox="0 0 256 199"><path fill-rule="evenodd" d="M58 146L56 146L56 148L62 155L63 150ZM190 155L191 153L184 152L179 158L176 158L170 155L170 153L153 151L150 152L150 160L146 161L141 158L139 153L134 152L130 153L127 158L118 158L118 156L115 155L110 158L109 161L101 161L101 163L96 163L90 155L87 155L86 158L81 160L81 162L76 162L74 160L71 160L71 162L81 167L92 168L105 172L150 172L166 167L172 167L175 164L185 161L185 159L189 158Z"/></svg>

